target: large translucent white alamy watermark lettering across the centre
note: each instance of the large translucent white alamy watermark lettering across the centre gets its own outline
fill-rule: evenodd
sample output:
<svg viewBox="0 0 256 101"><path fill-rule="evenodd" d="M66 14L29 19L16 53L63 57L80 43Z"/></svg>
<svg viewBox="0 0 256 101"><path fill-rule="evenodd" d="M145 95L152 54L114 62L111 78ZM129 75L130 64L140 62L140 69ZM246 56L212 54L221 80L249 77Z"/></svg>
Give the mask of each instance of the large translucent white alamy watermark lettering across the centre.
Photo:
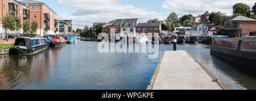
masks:
<svg viewBox="0 0 256 101"><path fill-rule="evenodd" d="M131 43L130 41L134 41L133 36L115 36L114 34L110 33L110 37L107 33L100 33L98 34L97 39L102 39L100 43L98 43L97 49L100 53L148 53L148 59L157 59L159 57L159 34L154 35L154 44L146 44L142 43L139 44L139 36L146 35L146 33L137 34L135 38L135 44ZM151 36L142 36L146 38L146 42L152 42ZM151 37L151 39L150 39ZM109 42L110 38L110 42ZM118 41L115 43L115 41ZM129 44L128 44L129 43ZM128 50L127 50L128 48Z"/></svg>

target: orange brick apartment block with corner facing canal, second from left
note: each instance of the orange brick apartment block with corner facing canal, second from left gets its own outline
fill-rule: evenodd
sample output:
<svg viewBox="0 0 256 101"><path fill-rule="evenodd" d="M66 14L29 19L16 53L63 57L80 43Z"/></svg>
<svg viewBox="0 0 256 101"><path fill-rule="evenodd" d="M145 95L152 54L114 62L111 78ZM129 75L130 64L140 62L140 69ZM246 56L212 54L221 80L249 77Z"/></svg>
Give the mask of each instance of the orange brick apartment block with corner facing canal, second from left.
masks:
<svg viewBox="0 0 256 101"><path fill-rule="evenodd" d="M23 5L26 5L30 10L30 24L32 21L38 23L38 30L36 31L37 36L45 36L49 34L58 34L59 31L57 23L57 14L51 8L49 8L45 3L25 0L21 1Z"/></svg>

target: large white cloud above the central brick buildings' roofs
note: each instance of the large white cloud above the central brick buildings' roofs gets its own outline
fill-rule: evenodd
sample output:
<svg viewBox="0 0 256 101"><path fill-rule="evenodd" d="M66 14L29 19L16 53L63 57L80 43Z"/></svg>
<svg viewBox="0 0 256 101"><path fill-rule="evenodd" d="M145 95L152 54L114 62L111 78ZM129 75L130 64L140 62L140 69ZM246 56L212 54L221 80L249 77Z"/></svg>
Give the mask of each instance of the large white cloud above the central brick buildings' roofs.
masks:
<svg viewBox="0 0 256 101"><path fill-rule="evenodd" d="M140 22L154 18L166 19L165 14L133 5L123 5L117 0L59 0L59 5L72 8L72 14L60 14L59 19L72 19L73 29L83 28L84 25L90 27L92 23L108 23L121 18L138 18Z"/></svg>

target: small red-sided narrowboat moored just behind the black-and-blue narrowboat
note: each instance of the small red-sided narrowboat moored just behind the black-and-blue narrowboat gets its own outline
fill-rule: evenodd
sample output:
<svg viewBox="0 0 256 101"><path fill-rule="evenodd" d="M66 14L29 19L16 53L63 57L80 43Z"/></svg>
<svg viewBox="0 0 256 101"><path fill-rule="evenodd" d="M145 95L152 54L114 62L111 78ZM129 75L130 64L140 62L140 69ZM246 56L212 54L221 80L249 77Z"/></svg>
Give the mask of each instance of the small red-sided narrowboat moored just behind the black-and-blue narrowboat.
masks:
<svg viewBox="0 0 256 101"><path fill-rule="evenodd" d="M52 42L51 42L51 47L62 47L62 46L65 46L66 45L66 42L65 42L65 38L64 37L60 37L60 36L57 36L57 37L52 37Z"/></svg>

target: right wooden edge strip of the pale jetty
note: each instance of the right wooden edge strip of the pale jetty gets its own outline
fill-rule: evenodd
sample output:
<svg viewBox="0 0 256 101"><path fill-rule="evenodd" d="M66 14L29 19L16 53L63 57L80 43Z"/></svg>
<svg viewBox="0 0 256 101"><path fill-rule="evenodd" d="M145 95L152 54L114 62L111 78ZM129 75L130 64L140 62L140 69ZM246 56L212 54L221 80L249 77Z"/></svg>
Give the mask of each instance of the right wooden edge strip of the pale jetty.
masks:
<svg viewBox="0 0 256 101"><path fill-rule="evenodd" d="M200 65L200 67L202 69L204 69L204 71L223 89L223 90L229 90L228 87L226 87L224 84L222 84L222 82L220 80L218 80L212 73L210 73L210 71L204 67L203 64L201 64L199 61L196 60L196 58L194 58L187 50L185 50L189 56L191 56L192 59L195 60L195 62L197 64Z"/></svg>

